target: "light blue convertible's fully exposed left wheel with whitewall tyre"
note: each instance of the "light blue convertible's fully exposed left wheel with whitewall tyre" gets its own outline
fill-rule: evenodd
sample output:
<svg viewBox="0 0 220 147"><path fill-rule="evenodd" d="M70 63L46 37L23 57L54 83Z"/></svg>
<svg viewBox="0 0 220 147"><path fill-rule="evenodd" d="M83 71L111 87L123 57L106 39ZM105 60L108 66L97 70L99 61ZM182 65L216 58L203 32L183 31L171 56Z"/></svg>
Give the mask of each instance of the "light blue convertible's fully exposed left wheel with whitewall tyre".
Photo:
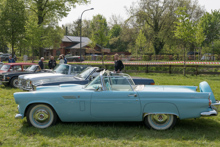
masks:
<svg viewBox="0 0 220 147"><path fill-rule="evenodd" d="M27 122L36 128L47 128L57 121L57 115L54 110L45 104L35 104L28 108Z"/></svg>

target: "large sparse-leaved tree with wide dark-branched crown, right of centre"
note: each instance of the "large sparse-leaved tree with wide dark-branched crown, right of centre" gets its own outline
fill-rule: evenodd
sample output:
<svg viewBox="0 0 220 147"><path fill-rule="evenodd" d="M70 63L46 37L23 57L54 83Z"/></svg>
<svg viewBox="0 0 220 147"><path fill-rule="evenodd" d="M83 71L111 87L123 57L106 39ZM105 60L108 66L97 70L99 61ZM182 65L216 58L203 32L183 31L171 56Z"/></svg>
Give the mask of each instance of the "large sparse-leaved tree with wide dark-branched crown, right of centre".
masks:
<svg viewBox="0 0 220 147"><path fill-rule="evenodd" d="M147 40L151 40L155 54L159 54L167 40L172 39L174 22L177 20L175 11L178 7L185 6L187 13L195 21L199 19L203 10L197 1L191 0L140 0L137 5L133 4L128 12L130 13L129 21L136 27L145 32Z"/></svg>

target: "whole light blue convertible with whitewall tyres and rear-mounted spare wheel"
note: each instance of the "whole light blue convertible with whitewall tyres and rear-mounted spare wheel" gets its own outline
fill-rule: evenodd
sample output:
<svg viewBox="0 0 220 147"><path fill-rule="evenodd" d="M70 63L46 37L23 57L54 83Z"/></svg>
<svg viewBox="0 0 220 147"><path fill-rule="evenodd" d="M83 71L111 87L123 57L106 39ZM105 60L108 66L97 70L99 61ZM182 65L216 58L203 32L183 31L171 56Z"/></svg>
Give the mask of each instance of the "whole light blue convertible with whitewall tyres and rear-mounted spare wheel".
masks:
<svg viewBox="0 0 220 147"><path fill-rule="evenodd" d="M63 122L143 121L156 130L172 128L176 120L216 116L219 102L207 82L196 86L135 85L127 74L103 71L86 86L64 84L37 87L14 94L19 114L36 128Z"/></svg>

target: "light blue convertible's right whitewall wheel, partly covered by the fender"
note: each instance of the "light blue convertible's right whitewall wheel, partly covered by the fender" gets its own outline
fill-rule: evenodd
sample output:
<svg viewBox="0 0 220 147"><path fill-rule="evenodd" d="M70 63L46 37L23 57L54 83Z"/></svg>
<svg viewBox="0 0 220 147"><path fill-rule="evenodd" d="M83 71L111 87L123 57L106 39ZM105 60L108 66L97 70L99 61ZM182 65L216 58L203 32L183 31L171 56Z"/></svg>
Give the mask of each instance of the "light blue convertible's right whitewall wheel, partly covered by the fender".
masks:
<svg viewBox="0 0 220 147"><path fill-rule="evenodd" d="M144 123L148 128L155 130L167 130L174 127L177 117L172 114L149 114L145 117Z"/></svg>

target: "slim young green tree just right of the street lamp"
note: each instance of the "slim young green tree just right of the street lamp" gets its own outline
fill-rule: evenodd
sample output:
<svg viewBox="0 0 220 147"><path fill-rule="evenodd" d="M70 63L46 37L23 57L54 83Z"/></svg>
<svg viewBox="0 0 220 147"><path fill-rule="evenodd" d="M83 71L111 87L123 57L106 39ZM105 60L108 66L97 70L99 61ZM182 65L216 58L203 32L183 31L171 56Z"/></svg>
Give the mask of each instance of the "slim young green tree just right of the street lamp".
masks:
<svg viewBox="0 0 220 147"><path fill-rule="evenodd" d="M109 40L108 37L108 25L107 21L104 16L98 14L96 16L93 16L93 19L91 21L91 29L92 29L92 42L95 44L99 44L102 47L106 46ZM102 52L102 65L104 66L103 61L103 51Z"/></svg>

